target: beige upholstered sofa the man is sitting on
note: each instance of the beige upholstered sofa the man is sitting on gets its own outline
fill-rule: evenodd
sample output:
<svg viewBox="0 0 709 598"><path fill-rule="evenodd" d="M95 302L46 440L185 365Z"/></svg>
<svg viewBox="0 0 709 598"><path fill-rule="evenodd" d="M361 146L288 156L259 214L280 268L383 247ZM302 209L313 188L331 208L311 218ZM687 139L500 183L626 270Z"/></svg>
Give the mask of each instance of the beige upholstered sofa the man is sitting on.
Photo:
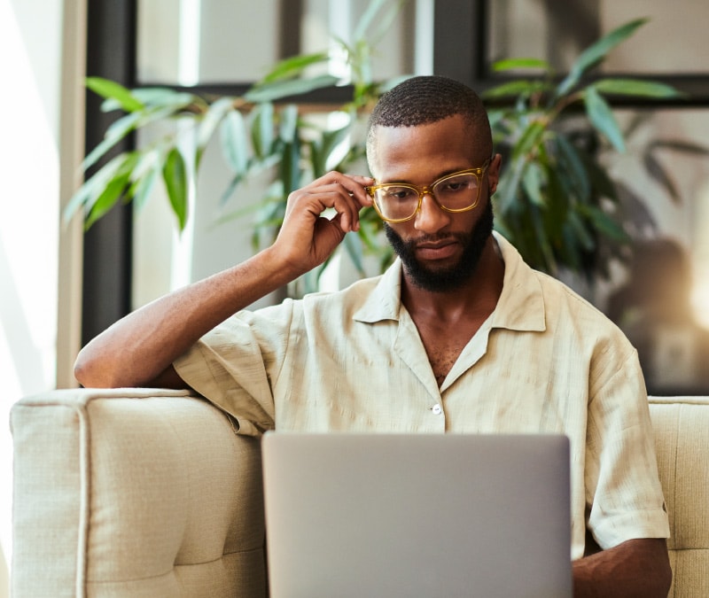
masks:
<svg viewBox="0 0 709 598"><path fill-rule="evenodd" d="M651 400L671 596L709 596L709 398ZM205 400L57 391L12 408L12 596L263 596L258 440Z"/></svg>

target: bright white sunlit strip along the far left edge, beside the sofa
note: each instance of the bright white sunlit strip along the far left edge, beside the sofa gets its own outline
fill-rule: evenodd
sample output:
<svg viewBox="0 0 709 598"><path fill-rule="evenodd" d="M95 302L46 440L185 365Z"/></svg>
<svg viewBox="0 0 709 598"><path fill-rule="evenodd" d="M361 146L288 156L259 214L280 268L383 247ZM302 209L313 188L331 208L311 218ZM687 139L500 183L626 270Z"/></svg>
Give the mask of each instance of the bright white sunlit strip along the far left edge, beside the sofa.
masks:
<svg viewBox="0 0 709 598"><path fill-rule="evenodd" d="M0 0L0 419L55 385L61 4ZM12 441L0 431L0 545L12 553ZM0 595L3 595L0 588Z"/></svg>

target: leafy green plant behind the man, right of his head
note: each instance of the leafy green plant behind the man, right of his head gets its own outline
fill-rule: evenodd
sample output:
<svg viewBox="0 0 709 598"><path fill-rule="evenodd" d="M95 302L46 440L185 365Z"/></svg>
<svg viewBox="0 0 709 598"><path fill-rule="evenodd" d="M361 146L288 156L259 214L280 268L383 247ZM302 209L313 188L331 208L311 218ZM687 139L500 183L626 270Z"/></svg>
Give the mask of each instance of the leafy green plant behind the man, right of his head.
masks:
<svg viewBox="0 0 709 598"><path fill-rule="evenodd" d="M558 274L561 268L592 276L606 274L598 260L603 244L625 245L619 198L599 161L599 144L626 151L624 136L606 96L678 97L676 89L639 79L586 75L647 19L618 27L582 51L568 74L556 78L549 63L518 58L495 63L541 71L484 94L487 101L513 98L490 110L495 145L507 166L495 193L495 226L534 268Z"/></svg>

